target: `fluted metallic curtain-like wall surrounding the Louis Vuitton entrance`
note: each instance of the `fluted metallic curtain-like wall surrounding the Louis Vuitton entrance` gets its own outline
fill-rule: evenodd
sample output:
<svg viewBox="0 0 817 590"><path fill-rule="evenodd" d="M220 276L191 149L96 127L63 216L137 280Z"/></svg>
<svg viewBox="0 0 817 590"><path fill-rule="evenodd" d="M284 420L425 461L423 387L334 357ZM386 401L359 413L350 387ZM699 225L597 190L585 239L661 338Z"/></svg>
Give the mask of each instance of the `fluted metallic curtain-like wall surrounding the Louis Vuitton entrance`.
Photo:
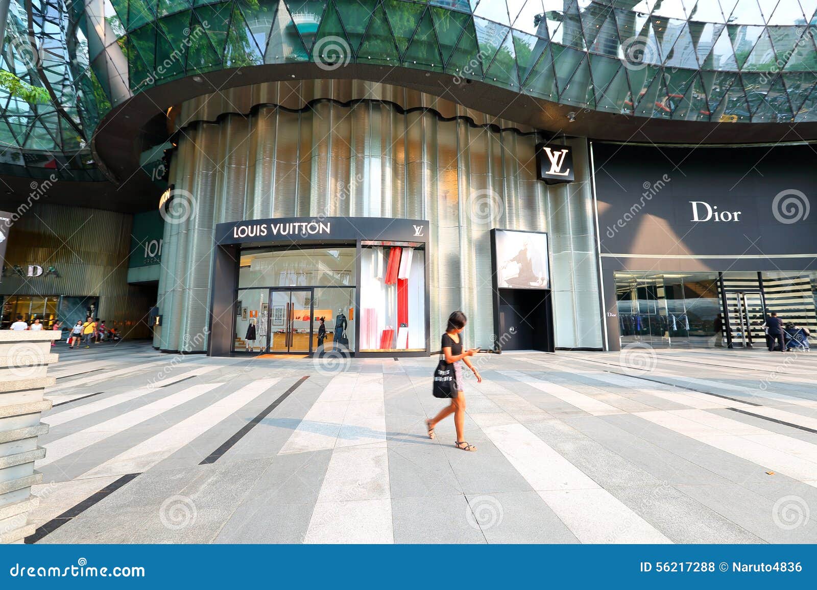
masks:
<svg viewBox="0 0 817 590"><path fill-rule="evenodd" d="M534 132L484 115L475 120L457 113L461 107L404 89L321 85L323 100L306 83L270 83L234 91L223 103L182 105L170 181L190 194L193 213L180 208L181 223L165 225L163 328L154 345L206 348L214 224L349 215L429 220L431 333L462 308L471 317L468 341L480 345L493 333L489 230L549 232L556 346L601 346L584 140L571 142L576 181L548 187L536 180L534 146L542 138ZM286 96L288 108L252 104L261 95ZM372 98L378 95L389 100ZM443 118L429 101L454 109L453 116ZM248 116L218 113L226 104L252 109Z"/></svg>

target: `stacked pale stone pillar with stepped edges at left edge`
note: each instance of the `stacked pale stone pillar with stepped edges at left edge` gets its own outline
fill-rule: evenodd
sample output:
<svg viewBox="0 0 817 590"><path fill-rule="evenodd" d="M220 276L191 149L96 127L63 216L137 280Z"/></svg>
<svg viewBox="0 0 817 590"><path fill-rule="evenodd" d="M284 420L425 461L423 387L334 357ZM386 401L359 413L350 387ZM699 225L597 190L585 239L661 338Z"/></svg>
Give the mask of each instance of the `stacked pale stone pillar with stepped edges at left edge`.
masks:
<svg viewBox="0 0 817 590"><path fill-rule="evenodd" d="M40 415L51 408L45 388L56 379L46 374L58 358L51 340L59 337L54 330L0 330L0 543L23 543L34 532L31 486L42 481L34 461L46 455L37 437L48 432Z"/></svg>

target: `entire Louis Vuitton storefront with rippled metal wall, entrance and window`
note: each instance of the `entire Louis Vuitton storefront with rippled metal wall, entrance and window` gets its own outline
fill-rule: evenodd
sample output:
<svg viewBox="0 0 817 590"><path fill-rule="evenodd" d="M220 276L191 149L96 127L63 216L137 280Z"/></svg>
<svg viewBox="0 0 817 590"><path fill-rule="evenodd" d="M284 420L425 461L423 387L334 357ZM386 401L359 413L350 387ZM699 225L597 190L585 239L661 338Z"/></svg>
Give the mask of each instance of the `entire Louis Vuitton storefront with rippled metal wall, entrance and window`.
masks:
<svg viewBox="0 0 817 590"><path fill-rule="evenodd" d="M469 346L602 347L586 140L359 81L173 114L156 348L426 355L457 309Z"/></svg>

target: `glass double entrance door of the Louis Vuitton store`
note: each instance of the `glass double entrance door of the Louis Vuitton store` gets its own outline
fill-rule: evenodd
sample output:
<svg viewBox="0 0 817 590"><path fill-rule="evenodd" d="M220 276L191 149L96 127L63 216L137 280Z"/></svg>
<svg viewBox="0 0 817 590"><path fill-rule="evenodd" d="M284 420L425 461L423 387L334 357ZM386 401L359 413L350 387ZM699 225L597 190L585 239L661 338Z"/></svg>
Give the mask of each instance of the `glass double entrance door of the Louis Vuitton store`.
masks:
<svg viewBox="0 0 817 590"><path fill-rule="evenodd" d="M315 349L312 308L311 289L270 289L270 353L311 353Z"/></svg>

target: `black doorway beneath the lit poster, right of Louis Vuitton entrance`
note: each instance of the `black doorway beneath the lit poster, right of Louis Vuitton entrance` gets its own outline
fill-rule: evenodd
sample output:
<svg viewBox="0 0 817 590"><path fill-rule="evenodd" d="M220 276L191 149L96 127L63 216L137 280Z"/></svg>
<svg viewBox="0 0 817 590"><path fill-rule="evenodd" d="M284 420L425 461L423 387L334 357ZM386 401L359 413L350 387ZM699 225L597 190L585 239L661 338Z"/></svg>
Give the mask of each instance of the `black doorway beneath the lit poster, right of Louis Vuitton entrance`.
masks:
<svg viewBox="0 0 817 590"><path fill-rule="evenodd" d="M549 289L498 289L497 313L496 345L500 350L553 352Z"/></svg>

